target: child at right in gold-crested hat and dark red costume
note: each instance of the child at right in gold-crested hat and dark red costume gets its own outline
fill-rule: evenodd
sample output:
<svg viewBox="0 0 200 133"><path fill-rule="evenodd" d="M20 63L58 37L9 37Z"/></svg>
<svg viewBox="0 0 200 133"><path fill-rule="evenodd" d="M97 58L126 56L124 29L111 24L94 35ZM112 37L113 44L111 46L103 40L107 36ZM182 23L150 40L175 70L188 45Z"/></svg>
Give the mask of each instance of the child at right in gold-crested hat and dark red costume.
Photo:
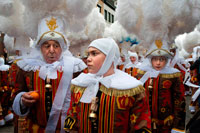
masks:
<svg viewBox="0 0 200 133"><path fill-rule="evenodd" d="M169 67L168 45L156 40L147 55L147 64L136 77L144 83L152 119L153 133L184 132L185 97L181 72Z"/></svg>

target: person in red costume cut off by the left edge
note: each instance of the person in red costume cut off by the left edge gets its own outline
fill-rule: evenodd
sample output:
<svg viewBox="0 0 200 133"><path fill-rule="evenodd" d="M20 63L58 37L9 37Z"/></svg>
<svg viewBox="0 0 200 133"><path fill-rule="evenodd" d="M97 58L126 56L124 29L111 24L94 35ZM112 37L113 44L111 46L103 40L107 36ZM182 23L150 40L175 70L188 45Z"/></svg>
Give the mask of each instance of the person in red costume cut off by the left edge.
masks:
<svg viewBox="0 0 200 133"><path fill-rule="evenodd" d="M0 57L0 126L13 120L11 111L11 92L9 87L9 65L5 65L5 60Z"/></svg>

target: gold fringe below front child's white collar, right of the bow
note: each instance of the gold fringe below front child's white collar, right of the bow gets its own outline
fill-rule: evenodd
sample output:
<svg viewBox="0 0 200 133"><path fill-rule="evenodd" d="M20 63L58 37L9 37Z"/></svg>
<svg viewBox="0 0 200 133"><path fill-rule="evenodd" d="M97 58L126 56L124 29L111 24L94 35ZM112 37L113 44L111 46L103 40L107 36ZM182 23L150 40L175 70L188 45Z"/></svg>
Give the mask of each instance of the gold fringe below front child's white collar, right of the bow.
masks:
<svg viewBox="0 0 200 133"><path fill-rule="evenodd" d="M140 94L145 91L145 88L142 85L139 85L135 88L127 89L127 90L117 90L112 88L106 88L105 86L101 85L100 90L109 95L109 96L134 96Z"/></svg>

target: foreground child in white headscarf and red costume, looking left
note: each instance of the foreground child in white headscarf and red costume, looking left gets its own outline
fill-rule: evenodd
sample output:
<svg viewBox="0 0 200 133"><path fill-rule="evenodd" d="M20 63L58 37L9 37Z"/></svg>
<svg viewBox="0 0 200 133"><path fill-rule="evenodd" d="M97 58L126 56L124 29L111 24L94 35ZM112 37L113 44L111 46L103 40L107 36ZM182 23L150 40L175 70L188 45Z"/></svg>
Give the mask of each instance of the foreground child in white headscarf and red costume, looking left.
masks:
<svg viewBox="0 0 200 133"><path fill-rule="evenodd" d="M67 132L151 132L145 89L140 81L116 69L119 57L112 38L90 43L89 73L72 80Z"/></svg>

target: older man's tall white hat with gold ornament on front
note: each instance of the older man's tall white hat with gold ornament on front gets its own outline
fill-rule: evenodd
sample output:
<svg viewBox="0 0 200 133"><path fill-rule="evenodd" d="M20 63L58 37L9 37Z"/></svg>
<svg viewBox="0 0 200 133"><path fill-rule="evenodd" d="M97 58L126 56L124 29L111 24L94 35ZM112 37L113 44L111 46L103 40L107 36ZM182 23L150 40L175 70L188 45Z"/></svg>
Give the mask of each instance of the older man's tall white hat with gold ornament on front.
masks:
<svg viewBox="0 0 200 133"><path fill-rule="evenodd" d="M65 37L65 22L61 17L48 16L39 23L35 47L40 48L48 40L58 41L62 50L68 49L69 42Z"/></svg>

